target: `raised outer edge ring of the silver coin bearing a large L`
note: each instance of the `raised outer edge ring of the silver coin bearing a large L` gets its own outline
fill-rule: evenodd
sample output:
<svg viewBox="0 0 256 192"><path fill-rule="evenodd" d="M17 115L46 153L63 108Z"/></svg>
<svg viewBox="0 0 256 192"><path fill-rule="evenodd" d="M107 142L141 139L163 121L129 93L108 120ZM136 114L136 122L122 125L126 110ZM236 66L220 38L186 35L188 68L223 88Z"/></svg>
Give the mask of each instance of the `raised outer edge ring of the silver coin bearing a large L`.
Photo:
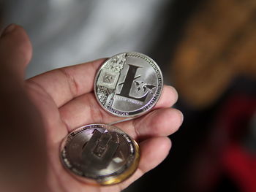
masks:
<svg viewBox="0 0 256 192"><path fill-rule="evenodd" d="M130 57L137 57L137 58L141 58L141 59L145 60L146 62L148 62L148 64L151 64L151 66L153 67L154 71L157 74L158 85L157 85L157 92L155 93L155 96L151 99L151 101L148 102L148 104L146 106L141 107L139 110L136 110L136 111L133 111L133 112L122 112L122 111L113 109L112 107L107 107L106 108L104 105L102 105L102 103L99 101L98 96L97 96L97 80L98 80L98 77L99 77L99 73L101 72L101 69L113 57L116 57L117 55L121 55L121 54L126 54L127 56L130 56ZM146 112L148 112L148 110L151 110L151 108L154 107L155 104L157 104L157 101L159 100L159 97L161 96L161 93L162 93L163 85L164 85L164 82L163 82L163 76L162 76L161 69L159 68L157 63L152 58L150 58L148 55L145 55L143 53L124 52L124 53L118 53L116 55L113 55L111 58L108 58L108 60L106 60L102 64L102 66L99 67L99 69L97 71L97 74L94 78L94 95L95 95L96 100L99 103L99 105L106 112L109 112L112 115L116 115L116 116L122 117L122 118L138 117L138 116L144 115Z"/></svg>

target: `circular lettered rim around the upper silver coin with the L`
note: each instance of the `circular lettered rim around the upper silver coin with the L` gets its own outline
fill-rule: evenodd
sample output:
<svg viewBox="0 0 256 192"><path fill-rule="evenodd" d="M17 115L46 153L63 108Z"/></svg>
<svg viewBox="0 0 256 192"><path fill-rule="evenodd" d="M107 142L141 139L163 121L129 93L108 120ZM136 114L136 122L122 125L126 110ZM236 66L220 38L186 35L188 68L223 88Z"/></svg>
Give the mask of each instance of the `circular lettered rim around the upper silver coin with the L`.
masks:
<svg viewBox="0 0 256 192"><path fill-rule="evenodd" d="M110 110L108 110L108 108L106 108L106 107L104 107L104 105L102 105L102 103L99 101L99 98L98 98L98 96L97 96L97 79L98 79L98 77L99 77L99 72L101 72L101 70L102 70L102 68L103 68L103 66L106 64L106 63L108 63L108 61L110 61L113 57L116 57L117 55L121 55L121 54L134 54L133 56L134 57L136 57L135 55L141 55L141 56L144 56L145 58L148 58L148 60L149 60L149 62L148 61L146 61L146 62L148 62L148 64L150 64L151 66L152 66L152 64L150 63L150 61L157 67L157 69L159 70L159 76L160 76L160 78L161 78L161 86L160 86L160 88L159 88L159 85L157 85L157 87L158 87L158 89L160 89L160 91L159 91L159 96L154 96L152 99L151 99L151 101L150 102L148 102L148 104L147 105L145 105L145 106L143 106L143 107L141 107L139 110L135 110L134 112L135 112L135 114L133 115L129 115L131 112L124 112L124 113L128 113L128 115L118 115L118 114L116 114L115 112L111 112ZM96 73L96 75L95 75L95 77L94 77L94 95L95 95L95 97L96 97L96 100L97 100L97 102L99 103L99 105L102 107L102 109L103 110L105 110L106 112L108 112L108 113L110 113L110 114L112 114L112 115L115 115L115 116L118 116L118 117L121 117L121 118L132 118L132 117L138 117L138 116L141 116L141 115L144 115L144 114L146 114L146 112L148 112L149 110L151 110L156 104L157 104L157 101L159 100L159 98L160 98L160 96L161 96L161 94L162 94L162 89L163 89L163 86L164 86L164 79L163 79L163 76L162 76L162 71L161 71L161 69L159 68L159 66L157 65L157 62L156 61L154 61L151 57L149 57L148 55L145 55L145 54L143 54L143 53L138 53L138 52L124 52L124 53L118 53L118 54L116 54L116 55L113 55L112 57L110 57L110 58L108 58L100 67L99 67L99 69L97 70L97 73ZM143 59L143 58L142 58ZM153 67L153 66L152 66ZM153 68L154 69L154 68ZM155 69L154 69L154 71L155 71ZM158 75L157 75L157 78L159 77ZM158 79L159 80L159 79ZM152 101L154 98L156 98L155 99L155 101ZM150 104L151 103L151 104ZM118 110L119 111L119 110Z"/></svg>

